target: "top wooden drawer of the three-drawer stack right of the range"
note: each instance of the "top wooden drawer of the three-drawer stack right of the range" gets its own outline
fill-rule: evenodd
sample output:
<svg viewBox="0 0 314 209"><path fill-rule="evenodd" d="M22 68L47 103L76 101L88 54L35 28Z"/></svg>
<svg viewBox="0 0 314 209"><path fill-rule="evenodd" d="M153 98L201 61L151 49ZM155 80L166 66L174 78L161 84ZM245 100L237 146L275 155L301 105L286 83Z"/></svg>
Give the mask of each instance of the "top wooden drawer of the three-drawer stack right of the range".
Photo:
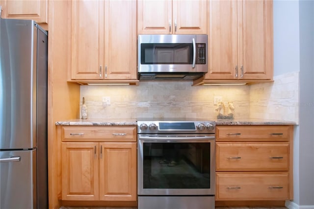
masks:
<svg viewBox="0 0 314 209"><path fill-rule="evenodd" d="M216 141L289 141L292 126L216 126Z"/></svg>

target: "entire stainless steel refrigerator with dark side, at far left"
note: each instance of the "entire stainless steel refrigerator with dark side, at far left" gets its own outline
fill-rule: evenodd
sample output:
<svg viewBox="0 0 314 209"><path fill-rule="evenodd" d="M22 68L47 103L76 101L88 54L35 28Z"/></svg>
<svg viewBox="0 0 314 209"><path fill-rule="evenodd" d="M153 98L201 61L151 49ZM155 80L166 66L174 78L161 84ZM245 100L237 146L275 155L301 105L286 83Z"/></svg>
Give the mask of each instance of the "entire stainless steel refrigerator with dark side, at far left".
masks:
<svg viewBox="0 0 314 209"><path fill-rule="evenodd" d="M0 19L0 209L48 208L48 33Z"/></svg>

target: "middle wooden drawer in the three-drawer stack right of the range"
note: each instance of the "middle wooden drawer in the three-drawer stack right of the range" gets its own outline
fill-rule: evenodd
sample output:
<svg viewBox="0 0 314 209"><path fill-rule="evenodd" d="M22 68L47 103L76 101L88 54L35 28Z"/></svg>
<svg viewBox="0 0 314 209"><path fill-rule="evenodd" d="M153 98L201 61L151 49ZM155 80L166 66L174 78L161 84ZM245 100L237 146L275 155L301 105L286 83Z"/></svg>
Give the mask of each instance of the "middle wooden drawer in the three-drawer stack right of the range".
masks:
<svg viewBox="0 0 314 209"><path fill-rule="evenodd" d="M216 142L216 171L288 170L288 142Z"/></svg>

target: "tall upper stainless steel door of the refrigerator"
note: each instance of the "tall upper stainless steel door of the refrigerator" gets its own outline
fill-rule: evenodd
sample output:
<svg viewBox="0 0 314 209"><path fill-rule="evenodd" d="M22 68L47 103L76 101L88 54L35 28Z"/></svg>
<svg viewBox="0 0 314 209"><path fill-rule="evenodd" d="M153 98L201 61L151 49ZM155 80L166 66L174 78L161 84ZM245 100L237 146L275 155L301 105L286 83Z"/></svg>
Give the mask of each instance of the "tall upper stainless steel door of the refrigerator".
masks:
<svg viewBox="0 0 314 209"><path fill-rule="evenodd" d="M36 147L37 27L0 19L0 149Z"/></svg>

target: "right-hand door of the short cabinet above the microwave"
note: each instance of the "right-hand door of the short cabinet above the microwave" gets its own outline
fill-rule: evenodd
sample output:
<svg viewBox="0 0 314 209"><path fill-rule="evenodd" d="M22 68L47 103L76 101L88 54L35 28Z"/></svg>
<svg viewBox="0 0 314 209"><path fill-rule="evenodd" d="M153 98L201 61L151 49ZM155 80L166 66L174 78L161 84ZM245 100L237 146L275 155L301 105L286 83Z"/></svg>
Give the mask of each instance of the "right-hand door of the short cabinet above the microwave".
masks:
<svg viewBox="0 0 314 209"><path fill-rule="evenodd" d="M172 33L207 34L208 0L173 0Z"/></svg>

